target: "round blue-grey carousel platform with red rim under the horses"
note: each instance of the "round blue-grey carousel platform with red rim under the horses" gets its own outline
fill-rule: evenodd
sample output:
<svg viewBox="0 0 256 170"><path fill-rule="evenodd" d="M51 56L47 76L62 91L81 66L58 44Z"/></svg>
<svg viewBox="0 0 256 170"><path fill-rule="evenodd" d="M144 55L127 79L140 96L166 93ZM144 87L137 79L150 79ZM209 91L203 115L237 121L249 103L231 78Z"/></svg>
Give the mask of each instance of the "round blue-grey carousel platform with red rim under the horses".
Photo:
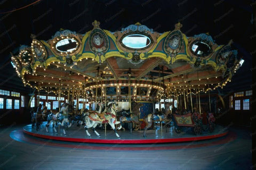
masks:
<svg viewBox="0 0 256 170"><path fill-rule="evenodd" d="M162 128L156 126L156 130L148 130L146 138L142 136L141 131L118 131L121 138L117 138L113 130L97 129L97 132L101 135L98 137L93 133L91 129L91 137L86 135L83 126L77 127L72 125L70 128L65 128L66 135L63 134L62 128L56 128L58 133L55 133L52 126L49 127L49 133L46 132L45 122L41 125L41 128L36 131L36 128L32 128L32 125L26 125L23 127L23 132L33 137L59 140L59 141L70 141L70 142L83 142L83 143L118 143L118 144L141 144L141 143L171 143L171 142L188 142L188 141L199 141L223 137L228 134L228 130L220 125L217 125L212 133L202 131L202 134L195 135L193 132L187 131L176 133L174 129Z"/></svg>

